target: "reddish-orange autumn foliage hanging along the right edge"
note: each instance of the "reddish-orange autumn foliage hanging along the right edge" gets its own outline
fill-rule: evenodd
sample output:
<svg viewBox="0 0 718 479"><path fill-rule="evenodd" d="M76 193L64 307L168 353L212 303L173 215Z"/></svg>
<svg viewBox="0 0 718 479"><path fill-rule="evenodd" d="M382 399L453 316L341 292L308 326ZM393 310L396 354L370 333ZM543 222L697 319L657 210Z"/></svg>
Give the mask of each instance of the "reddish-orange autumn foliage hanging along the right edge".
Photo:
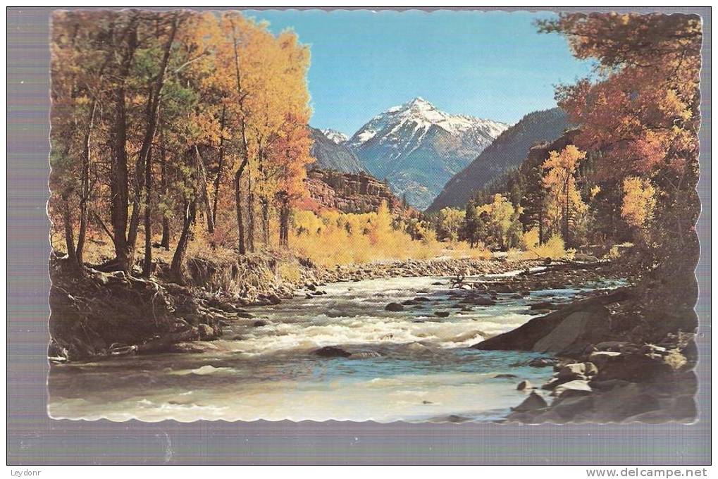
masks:
<svg viewBox="0 0 718 479"><path fill-rule="evenodd" d="M562 86L557 99L579 125L576 146L597 152L596 180L623 190L622 218L648 233L641 236L646 264L692 274L701 19L561 14L539 29L567 37L576 57L597 60L595 78Z"/></svg>

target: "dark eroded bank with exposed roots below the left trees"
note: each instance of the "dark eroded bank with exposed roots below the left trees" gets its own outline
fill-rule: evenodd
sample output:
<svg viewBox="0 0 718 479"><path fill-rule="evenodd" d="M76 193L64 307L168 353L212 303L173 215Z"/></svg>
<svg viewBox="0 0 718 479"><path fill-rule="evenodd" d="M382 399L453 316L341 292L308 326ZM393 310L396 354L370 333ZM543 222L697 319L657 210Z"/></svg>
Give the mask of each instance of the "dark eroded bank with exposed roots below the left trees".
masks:
<svg viewBox="0 0 718 479"><path fill-rule="evenodd" d="M53 363L159 352L174 343L221 334L218 315L196 292L175 284L50 259Z"/></svg>

